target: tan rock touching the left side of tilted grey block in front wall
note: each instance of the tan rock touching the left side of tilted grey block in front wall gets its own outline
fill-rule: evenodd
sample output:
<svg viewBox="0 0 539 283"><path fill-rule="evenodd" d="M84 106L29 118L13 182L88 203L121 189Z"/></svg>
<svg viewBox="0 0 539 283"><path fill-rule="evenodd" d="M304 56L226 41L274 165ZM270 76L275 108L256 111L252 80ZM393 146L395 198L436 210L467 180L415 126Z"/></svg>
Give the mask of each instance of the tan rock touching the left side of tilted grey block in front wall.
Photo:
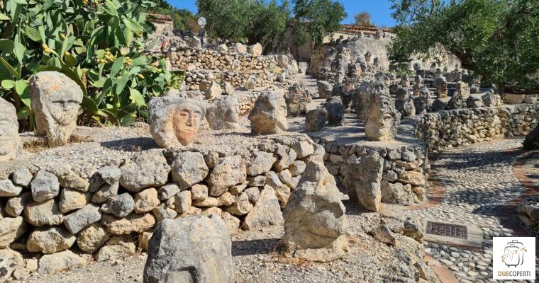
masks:
<svg viewBox="0 0 539 283"><path fill-rule="evenodd" d="M54 226L62 224L64 216L55 200L33 202L24 208L24 219L33 226Z"/></svg>

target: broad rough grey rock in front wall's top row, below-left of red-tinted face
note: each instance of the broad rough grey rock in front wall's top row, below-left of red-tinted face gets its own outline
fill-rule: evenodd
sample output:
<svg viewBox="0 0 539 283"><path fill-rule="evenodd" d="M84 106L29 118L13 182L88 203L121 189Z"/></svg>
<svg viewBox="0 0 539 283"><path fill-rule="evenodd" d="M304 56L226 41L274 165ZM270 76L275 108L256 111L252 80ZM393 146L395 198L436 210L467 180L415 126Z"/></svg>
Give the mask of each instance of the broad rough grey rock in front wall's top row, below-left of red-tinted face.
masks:
<svg viewBox="0 0 539 283"><path fill-rule="evenodd" d="M120 184L130 192L165 185L170 173L167 159L160 151L145 152L121 168Z"/></svg>

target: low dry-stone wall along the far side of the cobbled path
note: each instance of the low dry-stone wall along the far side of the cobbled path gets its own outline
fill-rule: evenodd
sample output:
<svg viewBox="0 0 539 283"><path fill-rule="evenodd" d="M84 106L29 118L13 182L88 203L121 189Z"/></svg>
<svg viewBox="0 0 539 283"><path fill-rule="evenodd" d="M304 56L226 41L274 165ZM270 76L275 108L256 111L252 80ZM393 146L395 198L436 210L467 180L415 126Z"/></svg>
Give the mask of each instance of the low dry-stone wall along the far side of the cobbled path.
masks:
<svg viewBox="0 0 539 283"><path fill-rule="evenodd" d="M528 134L539 119L539 105L462 108L427 113L416 128L430 152L465 146L497 137Z"/></svg>

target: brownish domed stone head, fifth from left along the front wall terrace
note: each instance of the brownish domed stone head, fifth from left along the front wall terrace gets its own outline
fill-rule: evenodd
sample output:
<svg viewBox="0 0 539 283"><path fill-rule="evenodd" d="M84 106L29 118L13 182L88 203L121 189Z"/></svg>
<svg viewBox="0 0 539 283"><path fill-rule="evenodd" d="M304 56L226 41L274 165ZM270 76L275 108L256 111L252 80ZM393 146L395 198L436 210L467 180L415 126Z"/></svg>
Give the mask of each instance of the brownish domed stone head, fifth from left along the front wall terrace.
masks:
<svg viewBox="0 0 539 283"><path fill-rule="evenodd" d="M262 92L249 114L252 134L287 132L287 103L281 93Z"/></svg>

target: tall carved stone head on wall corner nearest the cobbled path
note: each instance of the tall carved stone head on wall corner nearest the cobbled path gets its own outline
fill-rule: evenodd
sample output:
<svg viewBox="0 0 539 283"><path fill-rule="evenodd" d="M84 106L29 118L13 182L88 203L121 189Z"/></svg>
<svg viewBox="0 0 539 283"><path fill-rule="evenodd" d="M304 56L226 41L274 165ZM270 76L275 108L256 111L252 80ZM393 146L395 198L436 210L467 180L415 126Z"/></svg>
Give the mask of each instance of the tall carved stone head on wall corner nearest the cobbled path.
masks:
<svg viewBox="0 0 539 283"><path fill-rule="evenodd" d="M370 84L374 87L366 89L369 103L364 117L365 135L374 141L392 140L401 122L401 113L395 109L395 102L382 82Z"/></svg>

